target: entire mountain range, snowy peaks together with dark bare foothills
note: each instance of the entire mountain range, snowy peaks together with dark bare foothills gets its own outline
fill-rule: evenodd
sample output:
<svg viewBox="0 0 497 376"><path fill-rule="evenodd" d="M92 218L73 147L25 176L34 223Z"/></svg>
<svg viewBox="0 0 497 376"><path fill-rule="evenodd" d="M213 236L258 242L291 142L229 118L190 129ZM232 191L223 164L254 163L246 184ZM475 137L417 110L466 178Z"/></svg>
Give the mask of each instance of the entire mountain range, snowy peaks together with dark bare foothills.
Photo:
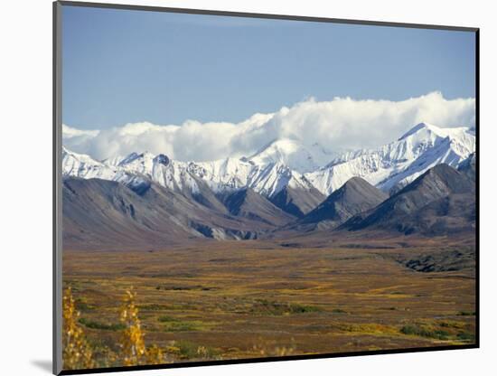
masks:
<svg viewBox="0 0 497 376"><path fill-rule="evenodd" d="M98 161L64 147L64 242L155 248L278 231L474 229L473 129L421 123L375 149L325 150L283 138L248 157L184 162L148 152Z"/></svg>

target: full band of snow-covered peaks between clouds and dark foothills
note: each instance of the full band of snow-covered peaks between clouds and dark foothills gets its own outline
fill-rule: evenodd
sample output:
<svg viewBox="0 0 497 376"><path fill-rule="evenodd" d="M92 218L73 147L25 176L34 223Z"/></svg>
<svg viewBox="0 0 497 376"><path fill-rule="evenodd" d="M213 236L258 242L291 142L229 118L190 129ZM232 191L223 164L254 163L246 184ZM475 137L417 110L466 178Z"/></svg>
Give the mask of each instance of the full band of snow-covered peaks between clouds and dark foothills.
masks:
<svg viewBox="0 0 497 376"><path fill-rule="evenodd" d="M474 130L421 123L388 145L334 158L324 147L306 147L283 138L248 158L229 157L210 162L175 161L167 155L148 152L97 161L64 148L62 168L67 176L135 186L151 180L181 193L195 194L202 190L200 185L207 185L213 193L251 188L271 198L286 187L301 192L317 189L329 195L354 176L384 192L393 192L436 164L456 167L474 150ZM325 164L326 157L329 157L327 162L333 160Z"/></svg>

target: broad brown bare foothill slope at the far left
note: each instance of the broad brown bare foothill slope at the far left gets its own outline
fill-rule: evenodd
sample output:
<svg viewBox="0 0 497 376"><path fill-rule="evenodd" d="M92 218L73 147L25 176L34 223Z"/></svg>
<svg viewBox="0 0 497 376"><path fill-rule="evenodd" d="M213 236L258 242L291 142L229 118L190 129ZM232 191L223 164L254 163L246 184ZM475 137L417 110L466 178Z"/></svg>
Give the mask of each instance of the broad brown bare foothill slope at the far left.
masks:
<svg viewBox="0 0 497 376"><path fill-rule="evenodd" d="M155 249L187 240L245 240L274 229L211 210L155 183L101 179L62 184L63 245L70 249Z"/></svg>

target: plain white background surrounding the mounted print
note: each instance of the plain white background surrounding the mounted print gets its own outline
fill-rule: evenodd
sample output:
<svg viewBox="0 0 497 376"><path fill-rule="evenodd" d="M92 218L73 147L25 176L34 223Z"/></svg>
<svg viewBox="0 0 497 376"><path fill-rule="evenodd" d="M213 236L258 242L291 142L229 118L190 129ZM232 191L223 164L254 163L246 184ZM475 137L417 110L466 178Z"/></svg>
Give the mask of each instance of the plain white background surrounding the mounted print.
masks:
<svg viewBox="0 0 497 376"><path fill-rule="evenodd" d="M46 375L52 363L52 1L2 3L0 373ZM131 374L495 374L497 249L492 241L495 239L492 214L496 212L492 167L496 160L492 155L496 152L497 124L492 115L497 106L494 95L497 14L492 1L140 0L127 3L481 28L481 349Z"/></svg>

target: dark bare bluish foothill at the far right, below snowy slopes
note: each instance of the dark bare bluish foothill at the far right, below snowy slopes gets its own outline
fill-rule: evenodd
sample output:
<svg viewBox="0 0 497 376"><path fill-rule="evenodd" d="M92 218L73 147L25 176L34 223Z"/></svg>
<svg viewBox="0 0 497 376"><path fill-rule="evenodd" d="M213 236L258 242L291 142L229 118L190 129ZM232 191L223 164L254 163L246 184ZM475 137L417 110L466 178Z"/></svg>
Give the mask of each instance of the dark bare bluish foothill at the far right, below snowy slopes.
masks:
<svg viewBox="0 0 497 376"><path fill-rule="evenodd" d="M466 174L437 164L399 193L352 217L346 230L395 230L439 235L474 230L475 187Z"/></svg>

